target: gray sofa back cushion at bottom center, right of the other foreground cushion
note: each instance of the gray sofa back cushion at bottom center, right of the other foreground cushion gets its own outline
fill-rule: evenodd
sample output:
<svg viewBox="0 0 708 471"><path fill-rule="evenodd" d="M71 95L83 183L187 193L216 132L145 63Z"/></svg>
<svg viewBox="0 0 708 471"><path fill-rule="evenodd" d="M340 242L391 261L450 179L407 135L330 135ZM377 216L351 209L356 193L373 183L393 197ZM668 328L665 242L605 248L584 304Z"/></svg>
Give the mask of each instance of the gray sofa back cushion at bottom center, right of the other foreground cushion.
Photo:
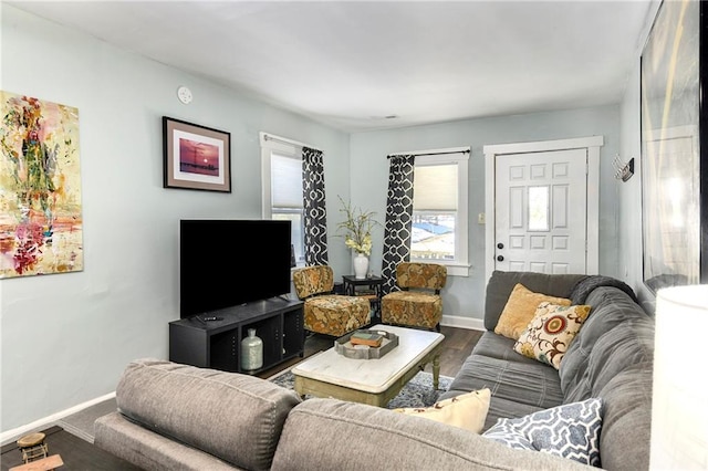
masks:
<svg viewBox="0 0 708 471"><path fill-rule="evenodd" d="M337 399L308 399L288 416L273 470L591 469L512 450L458 427Z"/></svg>

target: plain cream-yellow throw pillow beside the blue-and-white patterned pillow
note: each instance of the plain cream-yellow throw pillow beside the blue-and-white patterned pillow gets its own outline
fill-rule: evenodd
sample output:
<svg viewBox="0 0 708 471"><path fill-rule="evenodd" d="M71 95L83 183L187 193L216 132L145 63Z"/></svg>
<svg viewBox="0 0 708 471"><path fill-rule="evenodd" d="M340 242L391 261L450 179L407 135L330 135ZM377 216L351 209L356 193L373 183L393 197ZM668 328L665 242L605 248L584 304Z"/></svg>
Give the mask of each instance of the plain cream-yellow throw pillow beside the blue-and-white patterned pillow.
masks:
<svg viewBox="0 0 708 471"><path fill-rule="evenodd" d="M490 398L491 391L489 388L485 388L435 402L430 407L408 407L393 410L480 433L489 411Z"/></svg>

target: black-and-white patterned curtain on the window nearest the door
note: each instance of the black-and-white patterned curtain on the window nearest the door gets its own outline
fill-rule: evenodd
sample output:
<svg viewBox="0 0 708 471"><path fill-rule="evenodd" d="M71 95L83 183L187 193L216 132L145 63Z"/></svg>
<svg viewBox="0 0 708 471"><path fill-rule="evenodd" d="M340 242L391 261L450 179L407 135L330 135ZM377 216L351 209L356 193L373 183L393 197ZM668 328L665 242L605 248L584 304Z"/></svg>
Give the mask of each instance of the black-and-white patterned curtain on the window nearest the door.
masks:
<svg viewBox="0 0 708 471"><path fill-rule="evenodd" d="M413 229L413 171L415 156L389 158L386 227L384 229L384 258L382 261L383 294L396 286L396 265L410 260Z"/></svg>

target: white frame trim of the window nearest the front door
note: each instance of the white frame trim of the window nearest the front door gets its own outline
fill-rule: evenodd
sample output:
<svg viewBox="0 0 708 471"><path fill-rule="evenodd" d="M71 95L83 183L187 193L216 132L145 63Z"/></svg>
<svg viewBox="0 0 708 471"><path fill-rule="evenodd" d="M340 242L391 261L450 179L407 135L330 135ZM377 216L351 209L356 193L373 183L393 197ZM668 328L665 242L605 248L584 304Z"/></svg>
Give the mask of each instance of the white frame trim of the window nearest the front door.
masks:
<svg viewBox="0 0 708 471"><path fill-rule="evenodd" d="M455 260L440 260L447 266L451 276L469 276L469 147L454 147L445 149L418 150L415 156L415 167L457 164L457 216L455 227ZM414 208L415 210L415 208ZM429 262L428 259L410 259L412 261Z"/></svg>

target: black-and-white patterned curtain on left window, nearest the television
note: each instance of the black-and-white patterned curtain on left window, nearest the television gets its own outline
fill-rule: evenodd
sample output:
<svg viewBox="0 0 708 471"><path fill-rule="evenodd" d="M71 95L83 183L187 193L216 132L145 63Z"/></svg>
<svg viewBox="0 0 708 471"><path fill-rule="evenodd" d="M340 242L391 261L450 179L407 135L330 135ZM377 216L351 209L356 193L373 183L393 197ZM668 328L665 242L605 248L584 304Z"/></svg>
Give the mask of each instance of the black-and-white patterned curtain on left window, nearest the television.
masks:
<svg viewBox="0 0 708 471"><path fill-rule="evenodd" d="M327 211L322 150L302 148L302 206L305 265L327 264Z"/></svg>

